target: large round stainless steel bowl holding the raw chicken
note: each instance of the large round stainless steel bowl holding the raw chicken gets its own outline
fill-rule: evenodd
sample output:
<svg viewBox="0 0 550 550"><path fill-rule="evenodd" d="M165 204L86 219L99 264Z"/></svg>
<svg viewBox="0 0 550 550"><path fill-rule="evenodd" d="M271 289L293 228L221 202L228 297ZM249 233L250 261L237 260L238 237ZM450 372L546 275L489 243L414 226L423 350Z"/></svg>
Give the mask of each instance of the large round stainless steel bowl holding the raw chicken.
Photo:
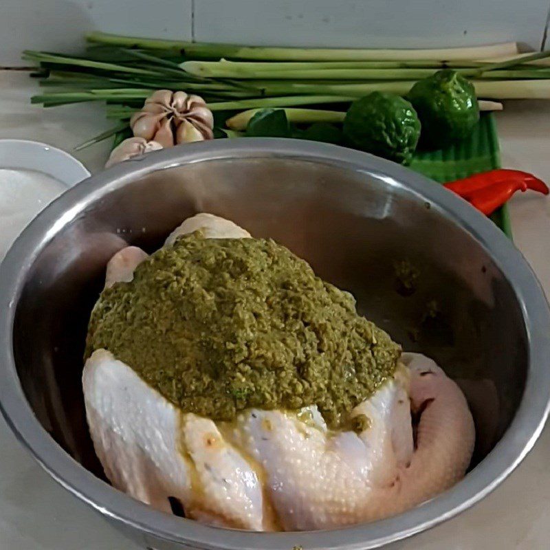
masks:
<svg viewBox="0 0 550 550"><path fill-rule="evenodd" d="M399 516L311 533L207 527L105 483L80 386L105 263L126 243L154 250L199 211L284 243L351 290L405 349L432 355L459 381L477 428L461 483ZM396 276L402 261L419 270L415 292ZM12 430L61 485L155 549L380 547L492 491L532 447L549 411L549 309L514 245L433 182L336 146L217 140L115 166L65 192L23 232L1 266L0 300L0 404Z"/></svg>

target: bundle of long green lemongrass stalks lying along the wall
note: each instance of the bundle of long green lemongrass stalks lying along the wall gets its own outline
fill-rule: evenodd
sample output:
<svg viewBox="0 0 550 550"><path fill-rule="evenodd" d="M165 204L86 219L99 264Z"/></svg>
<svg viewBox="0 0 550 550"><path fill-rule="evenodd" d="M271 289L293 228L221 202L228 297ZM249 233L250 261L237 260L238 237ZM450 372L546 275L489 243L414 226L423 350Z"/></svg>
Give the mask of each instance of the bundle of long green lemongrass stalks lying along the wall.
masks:
<svg viewBox="0 0 550 550"><path fill-rule="evenodd" d="M443 50L253 47L87 36L81 56L25 51L39 65L44 107L107 102L115 126L82 146L126 137L129 118L157 89L202 96L216 123L245 128L254 109L282 108L290 122L341 122L349 103L371 91L405 95L419 79L450 67L481 100L550 99L550 52L520 54L516 43ZM481 102L494 108L494 103ZM242 112L244 111L244 112Z"/></svg>

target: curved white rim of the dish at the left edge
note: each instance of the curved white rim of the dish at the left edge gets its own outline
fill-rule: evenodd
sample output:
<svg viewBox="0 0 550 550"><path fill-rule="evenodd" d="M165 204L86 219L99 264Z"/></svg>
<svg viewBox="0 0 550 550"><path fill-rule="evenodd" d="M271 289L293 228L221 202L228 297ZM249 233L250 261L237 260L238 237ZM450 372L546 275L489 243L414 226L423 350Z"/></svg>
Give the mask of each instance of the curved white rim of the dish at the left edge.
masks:
<svg viewBox="0 0 550 550"><path fill-rule="evenodd" d="M67 186L78 184L90 173L79 160L45 143L0 140L0 168L36 170Z"/></svg>

